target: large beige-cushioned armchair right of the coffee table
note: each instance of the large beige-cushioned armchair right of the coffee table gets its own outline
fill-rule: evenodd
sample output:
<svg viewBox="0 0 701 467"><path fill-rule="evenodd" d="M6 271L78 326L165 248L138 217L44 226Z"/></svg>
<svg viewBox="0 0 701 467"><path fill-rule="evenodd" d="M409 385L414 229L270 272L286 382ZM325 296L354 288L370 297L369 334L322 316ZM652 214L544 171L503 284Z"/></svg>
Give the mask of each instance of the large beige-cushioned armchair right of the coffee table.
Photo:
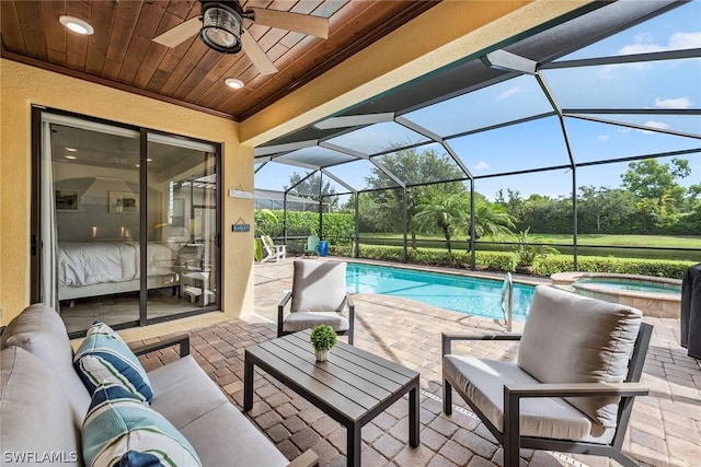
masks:
<svg viewBox="0 0 701 467"><path fill-rule="evenodd" d="M539 285L522 336L443 335L444 411L452 388L504 445L504 466L519 448L606 455L621 452L652 326L624 305ZM517 362L451 354L455 340L520 340ZM586 396L586 397L585 397Z"/></svg>

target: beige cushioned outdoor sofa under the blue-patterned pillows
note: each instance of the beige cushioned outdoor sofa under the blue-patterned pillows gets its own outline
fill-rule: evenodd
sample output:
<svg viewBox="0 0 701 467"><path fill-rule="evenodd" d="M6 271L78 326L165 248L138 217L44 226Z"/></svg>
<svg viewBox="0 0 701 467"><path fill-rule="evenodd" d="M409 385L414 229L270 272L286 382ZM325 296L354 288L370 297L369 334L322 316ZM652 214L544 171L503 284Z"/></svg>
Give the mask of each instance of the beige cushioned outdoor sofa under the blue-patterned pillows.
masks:
<svg viewBox="0 0 701 467"><path fill-rule="evenodd" d="M145 406L145 410L156 411L158 417L168 420L171 431L182 434L186 439L184 444L189 442L194 447L202 465L317 464L312 451L289 464L189 355L187 335L133 350L139 355L174 345L180 346L180 359L145 372L153 394L150 406L142 401L130 404ZM28 306L3 329L0 336L2 463L87 464L81 443L85 447L89 444L85 440L100 437L101 433L95 430L102 427L87 419L91 394L74 370L73 355L64 322L46 305ZM91 407L90 413L92 411ZM91 429L92 432L87 432ZM197 464L181 462L180 465Z"/></svg>

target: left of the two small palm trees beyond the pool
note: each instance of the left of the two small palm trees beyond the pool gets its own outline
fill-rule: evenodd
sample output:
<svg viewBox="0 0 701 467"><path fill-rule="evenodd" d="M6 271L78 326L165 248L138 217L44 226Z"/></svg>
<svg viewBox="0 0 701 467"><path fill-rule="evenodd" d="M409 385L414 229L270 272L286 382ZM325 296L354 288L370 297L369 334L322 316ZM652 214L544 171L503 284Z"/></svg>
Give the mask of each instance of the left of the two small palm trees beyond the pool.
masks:
<svg viewBox="0 0 701 467"><path fill-rule="evenodd" d="M417 212L412 219L412 224L420 232L435 232L438 227L445 238L448 252L450 238L466 225L470 218L470 201L464 194L436 192L430 199L426 199L417 207Z"/></svg>

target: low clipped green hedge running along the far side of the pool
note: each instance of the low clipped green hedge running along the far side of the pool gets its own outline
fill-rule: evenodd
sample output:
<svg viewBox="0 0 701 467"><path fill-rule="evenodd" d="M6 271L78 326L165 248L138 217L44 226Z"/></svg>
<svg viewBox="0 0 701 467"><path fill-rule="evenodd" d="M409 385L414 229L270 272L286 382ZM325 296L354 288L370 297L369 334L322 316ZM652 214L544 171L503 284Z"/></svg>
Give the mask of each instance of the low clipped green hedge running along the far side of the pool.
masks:
<svg viewBox="0 0 701 467"><path fill-rule="evenodd" d="M330 253L337 256L350 257L350 246L331 245ZM416 265L443 266L458 269L470 268L470 255L466 252L437 249L407 249L407 262ZM395 246L360 245L360 258L384 261L402 261L402 248ZM514 271L516 256L507 252L478 252L475 256L478 269L490 271ZM578 256L577 269L588 272L617 272L641 276L656 276L681 279L692 261L675 261L668 259L637 259L611 258L604 256ZM574 270L572 255L550 255L537 260L533 265L535 275L550 277L555 272Z"/></svg>

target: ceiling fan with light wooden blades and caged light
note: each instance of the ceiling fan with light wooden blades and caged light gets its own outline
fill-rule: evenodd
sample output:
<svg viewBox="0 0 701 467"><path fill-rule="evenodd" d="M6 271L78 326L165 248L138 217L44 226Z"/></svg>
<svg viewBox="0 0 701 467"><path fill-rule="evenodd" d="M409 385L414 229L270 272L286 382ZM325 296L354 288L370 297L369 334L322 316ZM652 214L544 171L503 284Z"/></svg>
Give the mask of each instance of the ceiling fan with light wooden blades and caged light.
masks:
<svg viewBox="0 0 701 467"><path fill-rule="evenodd" d="M243 49L261 74L272 74L277 72L277 68L255 39L246 34L245 26L255 23L324 39L329 37L326 17L264 8L244 11L239 0L200 0L200 3L202 16L191 17L154 37L153 42L172 48L199 34L207 47L221 54L238 54Z"/></svg>

